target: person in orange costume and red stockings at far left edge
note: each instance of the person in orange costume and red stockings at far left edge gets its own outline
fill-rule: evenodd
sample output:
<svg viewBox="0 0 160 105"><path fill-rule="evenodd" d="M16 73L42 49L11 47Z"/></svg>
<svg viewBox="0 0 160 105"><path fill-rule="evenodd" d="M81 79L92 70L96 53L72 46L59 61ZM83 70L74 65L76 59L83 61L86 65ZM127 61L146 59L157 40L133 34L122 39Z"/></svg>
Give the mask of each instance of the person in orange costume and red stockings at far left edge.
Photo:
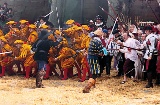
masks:
<svg viewBox="0 0 160 105"><path fill-rule="evenodd" d="M12 52L13 49L12 47L7 44L7 40L5 39L4 36L0 37L0 46L1 46L1 52ZM0 60L1 60L1 67L2 67L2 73L0 74L0 77L5 75L5 70L8 69L10 74L15 74L14 71L12 70L12 61L13 61L13 57L12 57L12 53L9 54L1 54L0 55Z"/></svg>

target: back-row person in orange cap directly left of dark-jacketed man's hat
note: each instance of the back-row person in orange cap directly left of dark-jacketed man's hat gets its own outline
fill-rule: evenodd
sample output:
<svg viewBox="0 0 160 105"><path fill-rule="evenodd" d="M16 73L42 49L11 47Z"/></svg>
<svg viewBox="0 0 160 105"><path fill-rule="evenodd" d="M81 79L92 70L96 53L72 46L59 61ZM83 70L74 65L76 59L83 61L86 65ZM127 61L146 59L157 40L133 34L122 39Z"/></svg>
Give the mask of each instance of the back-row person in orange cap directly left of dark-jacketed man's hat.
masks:
<svg viewBox="0 0 160 105"><path fill-rule="evenodd" d="M32 45L38 39L38 33L36 32L36 26L34 24L29 25L29 37L27 43Z"/></svg>

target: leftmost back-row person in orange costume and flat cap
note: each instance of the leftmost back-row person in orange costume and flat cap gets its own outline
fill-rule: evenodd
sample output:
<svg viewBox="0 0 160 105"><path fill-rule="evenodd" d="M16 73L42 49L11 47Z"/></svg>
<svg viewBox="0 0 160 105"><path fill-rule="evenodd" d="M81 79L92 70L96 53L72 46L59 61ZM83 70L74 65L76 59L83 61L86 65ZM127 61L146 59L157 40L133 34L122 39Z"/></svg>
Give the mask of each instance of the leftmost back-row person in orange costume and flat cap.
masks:
<svg viewBox="0 0 160 105"><path fill-rule="evenodd" d="M9 32L5 35L5 38L8 40L9 45L12 45L15 40L20 38L20 31L15 27L17 22L9 21L6 23L9 27Z"/></svg>

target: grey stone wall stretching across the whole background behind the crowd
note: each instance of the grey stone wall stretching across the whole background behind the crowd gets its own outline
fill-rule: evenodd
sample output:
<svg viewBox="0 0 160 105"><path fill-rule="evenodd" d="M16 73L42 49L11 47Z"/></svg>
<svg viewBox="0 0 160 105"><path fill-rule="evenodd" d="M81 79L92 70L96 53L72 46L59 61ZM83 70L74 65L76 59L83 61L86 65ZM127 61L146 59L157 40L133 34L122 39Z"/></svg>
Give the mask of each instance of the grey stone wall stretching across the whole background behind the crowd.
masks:
<svg viewBox="0 0 160 105"><path fill-rule="evenodd" d="M117 13L123 13L126 17L139 17L143 21L156 21L154 13L146 3L146 0L109 0ZM159 0L151 1L150 5L160 20ZM113 21L99 6L105 8L108 13L114 17L111 7L108 6L107 0L0 0L0 4L8 3L8 7L13 8L14 20L27 19L35 21L39 16L46 15L52 9L54 12L50 15L50 21L57 26L57 16L55 7L58 7L60 23L63 24L68 19L75 19L80 23L87 23L88 20L94 19L100 14L107 21L107 25L113 25ZM52 4L51 4L52 3ZM75 5L75 4L76 5Z"/></svg>

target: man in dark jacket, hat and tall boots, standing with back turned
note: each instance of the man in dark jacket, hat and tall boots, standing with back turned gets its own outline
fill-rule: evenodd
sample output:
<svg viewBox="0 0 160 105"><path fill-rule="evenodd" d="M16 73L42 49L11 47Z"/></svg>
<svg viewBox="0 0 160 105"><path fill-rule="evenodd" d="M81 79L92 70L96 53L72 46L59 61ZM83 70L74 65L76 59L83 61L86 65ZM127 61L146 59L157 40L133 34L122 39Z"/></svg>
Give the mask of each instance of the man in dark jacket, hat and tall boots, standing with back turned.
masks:
<svg viewBox="0 0 160 105"><path fill-rule="evenodd" d="M36 75L37 88L43 88L42 80L46 73L45 70L46 64L48 64L49 49L52 46L56 46L53 41L48 40L49 35L50 33L48 33L46 30L42 30L39 33L39 39L32 46L32 51L35 52L33 58L38 65L38 73Z"/></svg>

